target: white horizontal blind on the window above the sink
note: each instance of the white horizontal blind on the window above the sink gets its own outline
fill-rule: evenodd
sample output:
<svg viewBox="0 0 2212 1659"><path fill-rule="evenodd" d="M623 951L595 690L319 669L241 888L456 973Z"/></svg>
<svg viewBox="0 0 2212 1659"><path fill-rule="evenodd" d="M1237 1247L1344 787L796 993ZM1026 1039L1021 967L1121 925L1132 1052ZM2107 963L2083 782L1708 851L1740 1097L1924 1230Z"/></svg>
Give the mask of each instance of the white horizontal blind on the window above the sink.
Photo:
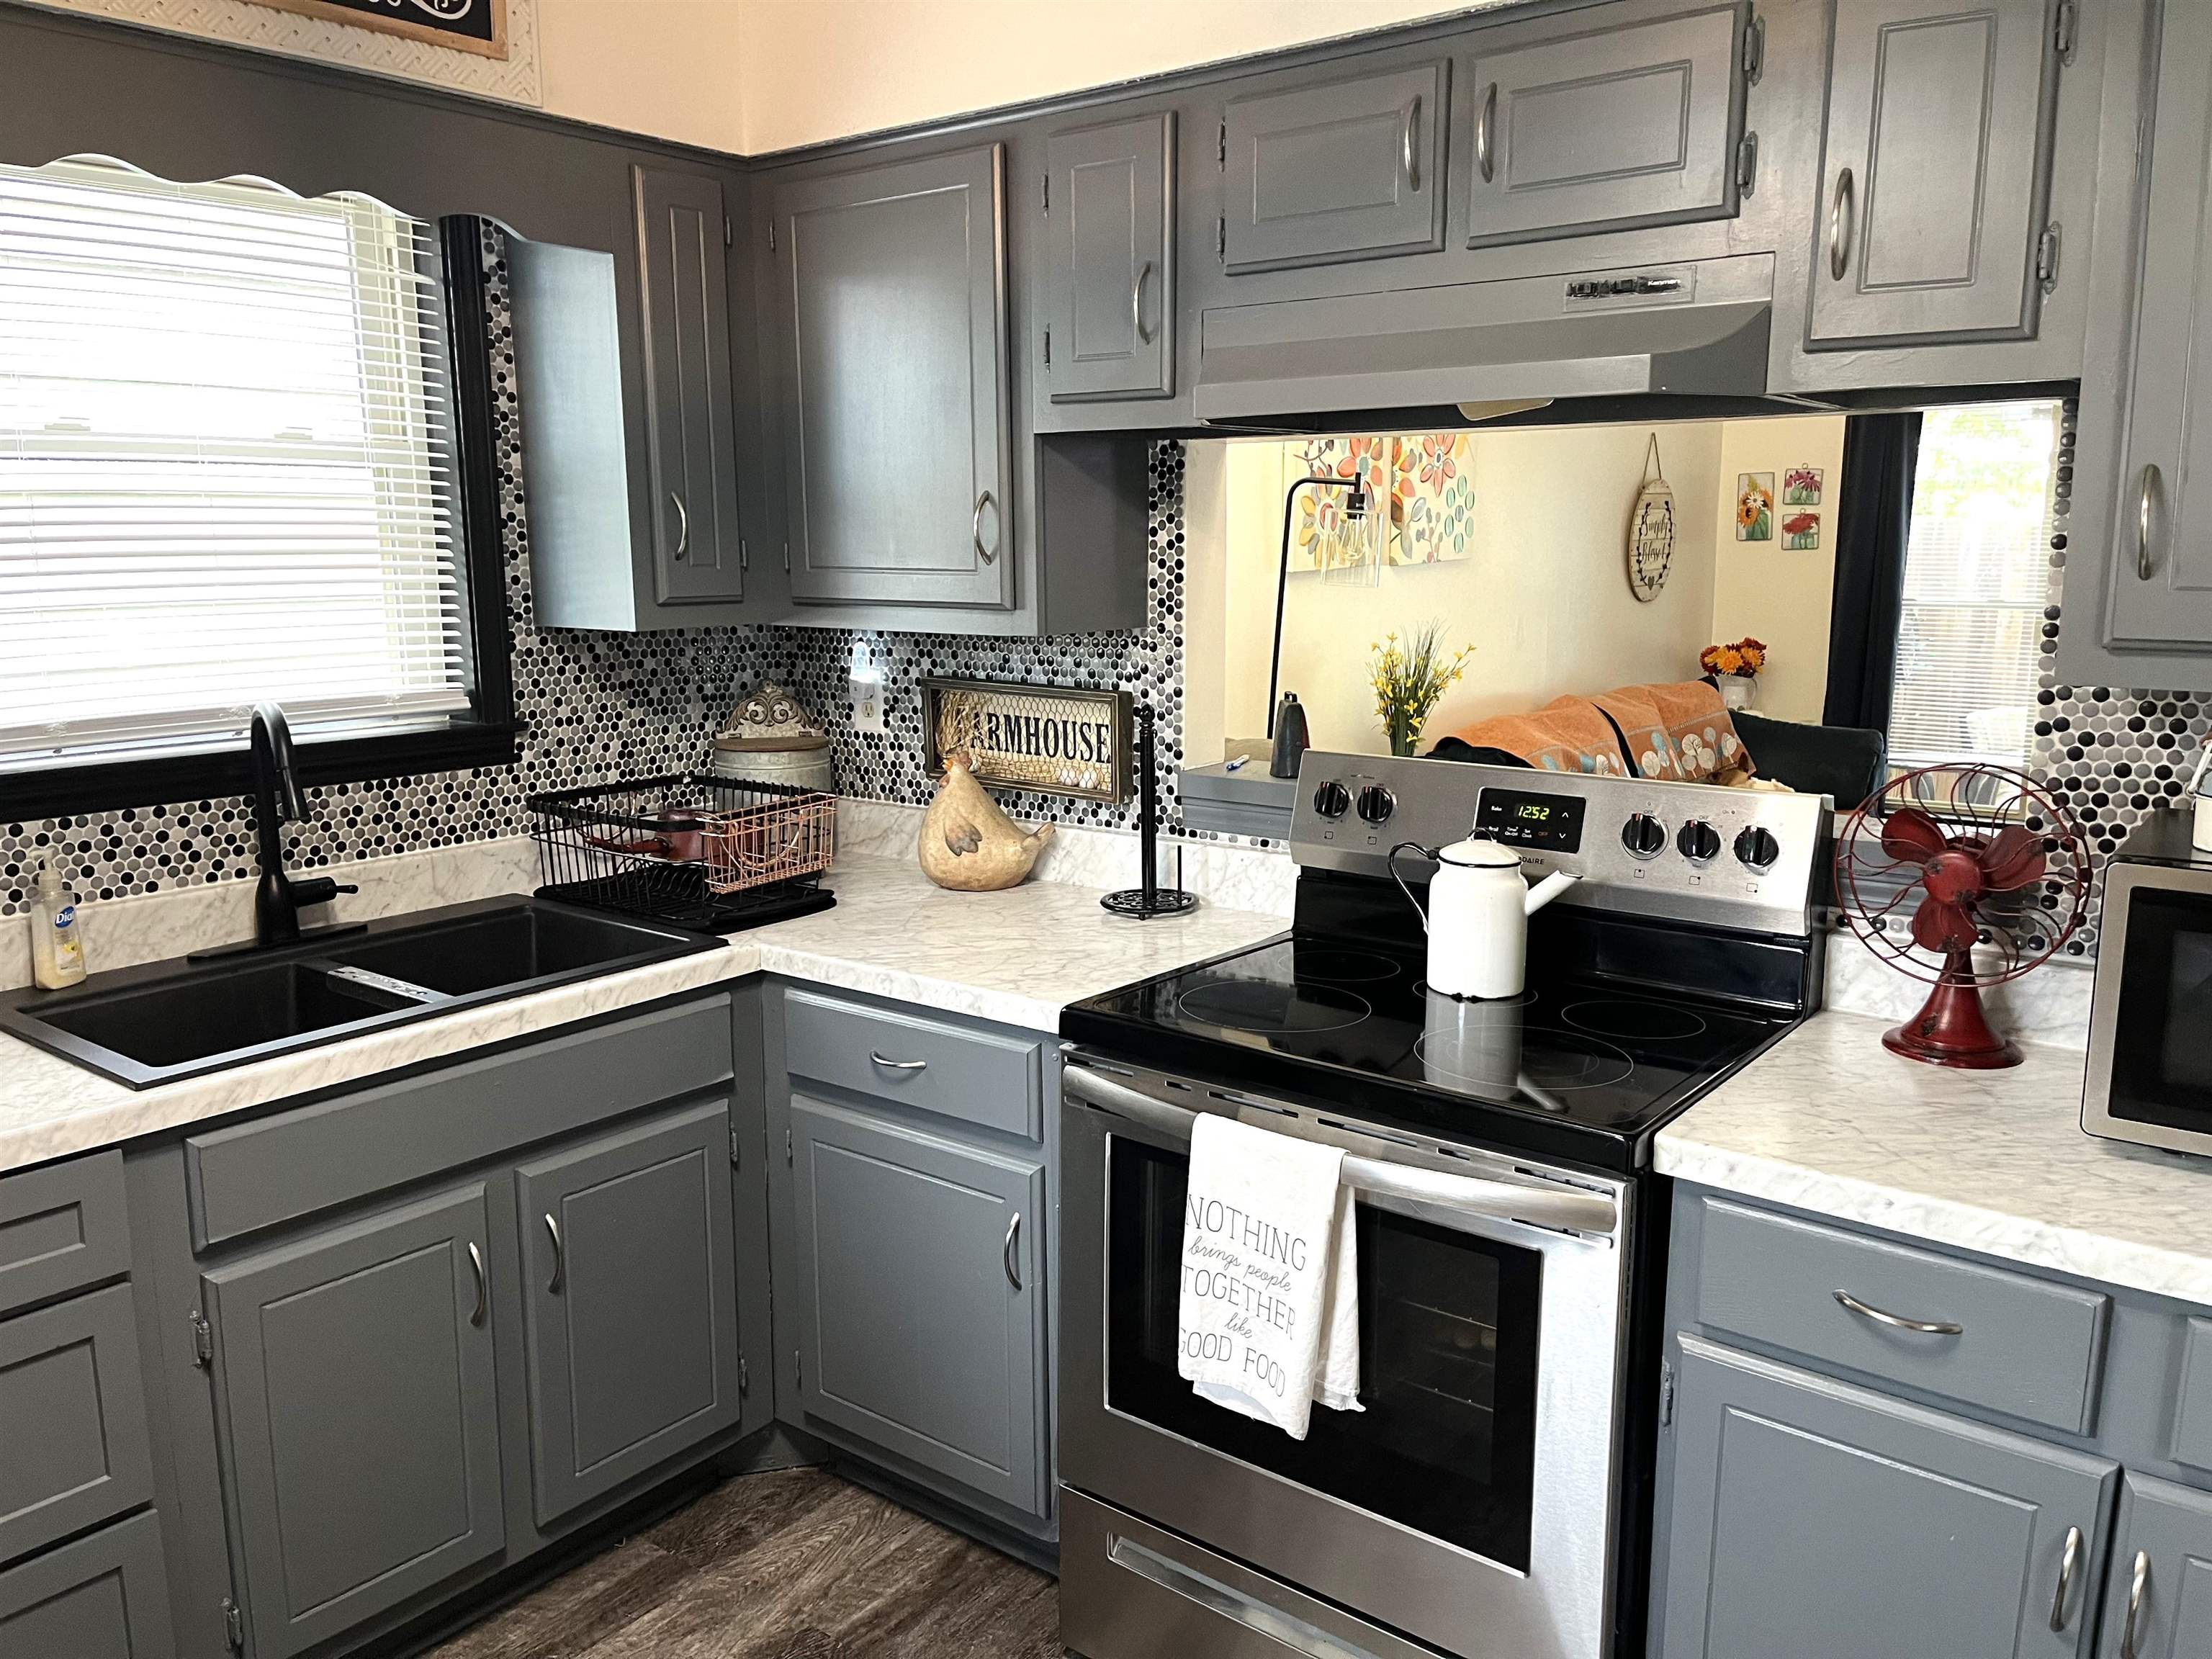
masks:
<svg viewBox="0 0 2212 1659"><path fill-rule="evenodd" d="M469 708L431 226L0 166L0 765Z"/></svg>

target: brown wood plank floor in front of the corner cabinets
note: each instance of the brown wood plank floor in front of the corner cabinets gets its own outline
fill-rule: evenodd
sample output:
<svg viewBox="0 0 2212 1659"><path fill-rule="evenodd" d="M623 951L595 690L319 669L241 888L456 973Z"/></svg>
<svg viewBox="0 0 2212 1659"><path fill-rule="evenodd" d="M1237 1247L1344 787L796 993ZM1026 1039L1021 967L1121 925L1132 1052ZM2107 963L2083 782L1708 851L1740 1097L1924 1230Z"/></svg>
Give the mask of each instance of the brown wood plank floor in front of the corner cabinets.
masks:
<svg viewBox="0 0 2212 1659"><path fill-rule="evenodd" d="M1062 1659L1057 1586L821 1469L728 1480L431 1659Z"/></svg>

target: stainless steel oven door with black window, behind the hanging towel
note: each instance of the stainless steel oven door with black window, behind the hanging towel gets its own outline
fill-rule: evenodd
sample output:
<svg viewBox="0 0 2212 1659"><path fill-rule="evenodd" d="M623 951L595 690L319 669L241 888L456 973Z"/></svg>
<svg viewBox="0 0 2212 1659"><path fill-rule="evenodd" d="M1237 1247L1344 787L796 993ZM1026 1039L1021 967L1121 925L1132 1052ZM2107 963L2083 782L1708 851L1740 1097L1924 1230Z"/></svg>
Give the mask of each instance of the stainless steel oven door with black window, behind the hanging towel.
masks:
<svg viewBox="0 0 2212 1659"><path fill-rule="evenodd" d="M1303 1442L1177 1376L1194 1108L1347 1148L1365 1411ZM1062 1170L1068 1486L1449 1652L1606 1650L1626 1183L1073 1062Z"/></svg>

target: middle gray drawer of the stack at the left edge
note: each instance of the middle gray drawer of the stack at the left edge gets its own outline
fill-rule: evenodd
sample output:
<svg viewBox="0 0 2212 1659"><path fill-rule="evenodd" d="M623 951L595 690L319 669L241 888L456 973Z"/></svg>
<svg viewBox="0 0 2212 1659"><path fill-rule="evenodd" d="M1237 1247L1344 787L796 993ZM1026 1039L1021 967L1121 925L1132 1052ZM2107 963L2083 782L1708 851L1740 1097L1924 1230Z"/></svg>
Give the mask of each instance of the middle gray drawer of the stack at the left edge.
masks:
<svg viewBox="0 0 2212 1659"><path fill-rule="evenodd" d="M153 1498L131 1287L0 1325L0 1562Z"/></svg>

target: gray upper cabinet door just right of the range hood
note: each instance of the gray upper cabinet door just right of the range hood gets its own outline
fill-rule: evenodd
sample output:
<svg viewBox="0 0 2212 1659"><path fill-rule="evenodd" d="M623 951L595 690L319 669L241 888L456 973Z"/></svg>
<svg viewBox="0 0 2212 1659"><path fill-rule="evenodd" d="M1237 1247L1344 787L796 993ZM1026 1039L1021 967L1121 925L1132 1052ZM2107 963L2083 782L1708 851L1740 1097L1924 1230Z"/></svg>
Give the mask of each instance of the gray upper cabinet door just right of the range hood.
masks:
<svg viewBox="0 0 2212 1659"><path fill-rule="evenodd" d="M2035 334L2053 0L1836 7L1812 345Z"/></svg>

